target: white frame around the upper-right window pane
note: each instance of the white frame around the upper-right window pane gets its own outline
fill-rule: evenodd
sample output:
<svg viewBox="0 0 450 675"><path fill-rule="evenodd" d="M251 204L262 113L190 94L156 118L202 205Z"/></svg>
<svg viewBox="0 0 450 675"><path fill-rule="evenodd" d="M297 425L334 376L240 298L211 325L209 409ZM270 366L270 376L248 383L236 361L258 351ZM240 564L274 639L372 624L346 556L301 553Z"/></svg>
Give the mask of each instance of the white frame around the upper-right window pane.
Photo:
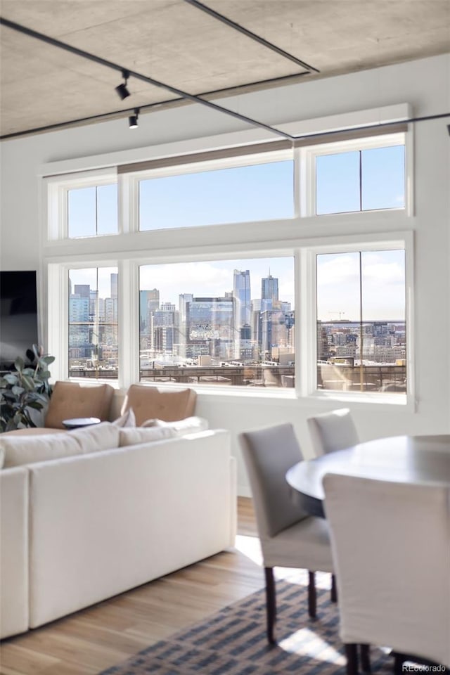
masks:
<svg viewBox="0 0 450 675"><path fill-rule="evenodd" d="M302 193L300 213L302 217L329 218L330 216L352 217L354 214L368 213L386 213L386 212L406 212L406 215L412 214L412 147L411 134L404 131L398 134L380 134L380 136L371 136L367 139L353 139L352 141L335 141L333 143L321 143L316 146L300 148L300 162L302 171ZM393 146L405 147L405 176L404 176L404 207L389 209L358 210L349 212L335 213L316 213L316 160L323 155L341 155L343 153L356 152L359 150L374 150L376 148L392 148Z"/></svg>

